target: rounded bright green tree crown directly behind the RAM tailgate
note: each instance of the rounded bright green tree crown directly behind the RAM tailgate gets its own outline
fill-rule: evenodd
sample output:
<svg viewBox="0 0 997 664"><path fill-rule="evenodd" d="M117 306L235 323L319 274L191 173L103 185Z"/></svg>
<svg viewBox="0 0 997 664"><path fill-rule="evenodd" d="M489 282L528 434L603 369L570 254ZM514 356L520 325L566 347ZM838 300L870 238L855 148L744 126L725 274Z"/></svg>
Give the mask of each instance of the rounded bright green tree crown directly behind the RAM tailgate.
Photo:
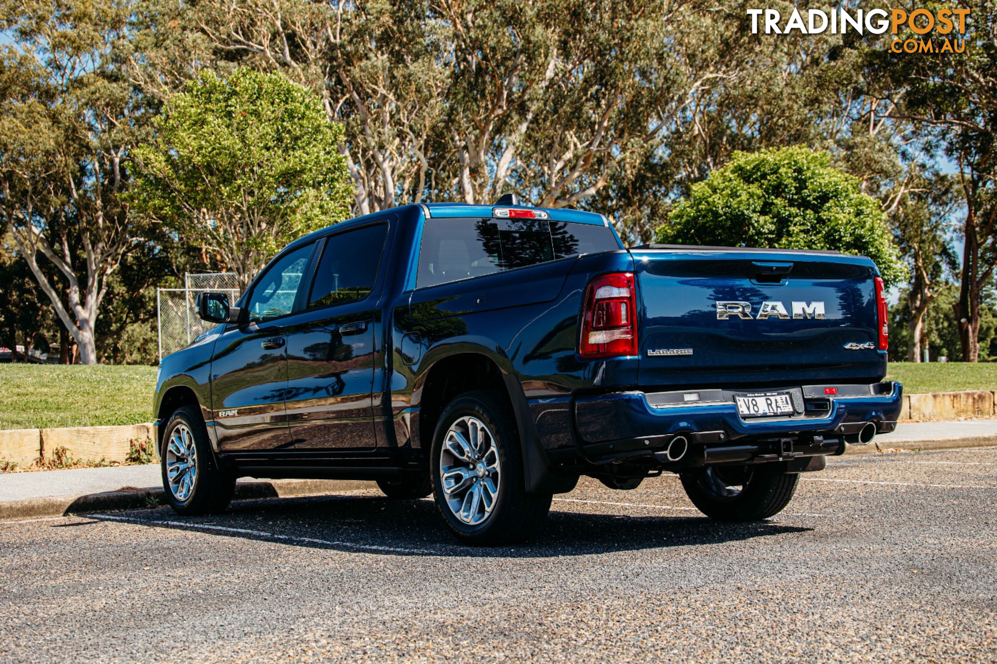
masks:
<svg viewBox="0 0 997 664"><path fill-rule="evenodd" d="M875 199L858 179L807 147L735 152L692 187L657 241L776 249L833 249L868 256L887 284L905 271Z"/></svg>

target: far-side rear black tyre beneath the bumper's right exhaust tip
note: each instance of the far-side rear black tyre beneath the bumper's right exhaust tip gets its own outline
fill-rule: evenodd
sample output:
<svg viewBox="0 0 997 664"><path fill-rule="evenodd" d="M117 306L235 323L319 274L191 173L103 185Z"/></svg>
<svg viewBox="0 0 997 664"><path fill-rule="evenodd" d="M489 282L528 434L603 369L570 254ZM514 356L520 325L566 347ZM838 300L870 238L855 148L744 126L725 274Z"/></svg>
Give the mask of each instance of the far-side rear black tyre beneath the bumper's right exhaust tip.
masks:
<svg viewBox="0 0 997 664"><path fill-rule="evenodd" d="M797 489L798 474L782 464L711 466L682 473L693 505L717 521L760 521L783 511Z"/></svg>

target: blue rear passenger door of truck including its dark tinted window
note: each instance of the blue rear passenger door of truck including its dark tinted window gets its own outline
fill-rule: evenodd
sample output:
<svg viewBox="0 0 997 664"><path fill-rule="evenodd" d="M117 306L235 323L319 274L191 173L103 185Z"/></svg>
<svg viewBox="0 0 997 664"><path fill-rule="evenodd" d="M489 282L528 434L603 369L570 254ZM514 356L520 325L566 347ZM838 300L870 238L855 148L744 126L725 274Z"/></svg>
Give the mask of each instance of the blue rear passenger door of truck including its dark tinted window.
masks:
<svg viewBox="0 0 997 664"><path fill-rule="evenodd" d="M295 450L377 447L372 399L386 220L325 239L304 311L287 330Z"/></svg>

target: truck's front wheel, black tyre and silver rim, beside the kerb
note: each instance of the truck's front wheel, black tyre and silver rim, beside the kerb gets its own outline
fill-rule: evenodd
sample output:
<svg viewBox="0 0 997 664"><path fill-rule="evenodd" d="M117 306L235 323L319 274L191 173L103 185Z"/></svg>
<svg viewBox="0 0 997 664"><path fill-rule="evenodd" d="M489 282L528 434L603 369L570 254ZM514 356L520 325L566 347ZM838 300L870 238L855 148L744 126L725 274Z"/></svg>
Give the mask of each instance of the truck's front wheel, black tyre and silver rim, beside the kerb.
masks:
<svg viewBox="0 0 997 664"><path fill-rule="evenodd" d="M170 415L160 452L166 500L177 514L224 512L235 493L235 477L218 468L196 406Z"/></svg>

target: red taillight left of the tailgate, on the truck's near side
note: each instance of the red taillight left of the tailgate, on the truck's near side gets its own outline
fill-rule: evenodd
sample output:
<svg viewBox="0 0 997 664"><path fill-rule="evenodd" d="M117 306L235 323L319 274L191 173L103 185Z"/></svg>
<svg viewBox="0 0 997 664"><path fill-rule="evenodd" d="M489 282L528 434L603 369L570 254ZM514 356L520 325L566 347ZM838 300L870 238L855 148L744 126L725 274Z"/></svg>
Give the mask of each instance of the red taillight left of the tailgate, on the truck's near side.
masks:
<svg viewBox="0 0 997 664"><path fill-rule="evenodd" d="M585 292L578 354L586 359L637 354L633 273L596 277Z"/></svg>

